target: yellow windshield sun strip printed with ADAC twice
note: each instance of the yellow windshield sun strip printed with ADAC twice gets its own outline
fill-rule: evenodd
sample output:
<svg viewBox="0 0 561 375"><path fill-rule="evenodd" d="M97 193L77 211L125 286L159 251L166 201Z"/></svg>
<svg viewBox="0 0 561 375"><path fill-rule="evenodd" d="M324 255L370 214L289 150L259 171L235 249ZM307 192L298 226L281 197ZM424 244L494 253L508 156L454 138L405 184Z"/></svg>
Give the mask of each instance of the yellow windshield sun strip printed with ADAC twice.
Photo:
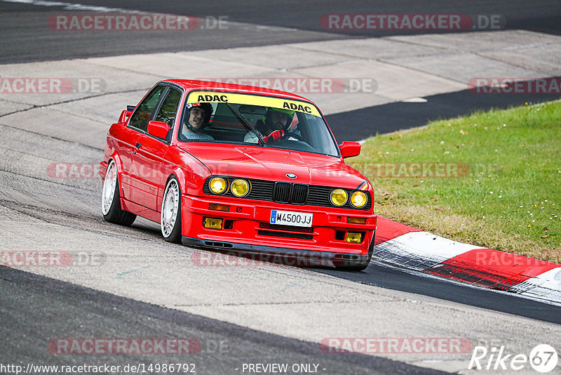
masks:
<svg viewBox="0 0 561 375"><path fill-rule="evenodd" d="M295 110L297 112L313 114L313 116L321 117L320 112L314 105L311 105L311 103L301 102L299 100L288 100L282 98L271 98L270 96L238 93L222 93L219 91L193 91L189 93L189 98L187 98L187 104L225 102L283 108L284 110Z"/></svg>

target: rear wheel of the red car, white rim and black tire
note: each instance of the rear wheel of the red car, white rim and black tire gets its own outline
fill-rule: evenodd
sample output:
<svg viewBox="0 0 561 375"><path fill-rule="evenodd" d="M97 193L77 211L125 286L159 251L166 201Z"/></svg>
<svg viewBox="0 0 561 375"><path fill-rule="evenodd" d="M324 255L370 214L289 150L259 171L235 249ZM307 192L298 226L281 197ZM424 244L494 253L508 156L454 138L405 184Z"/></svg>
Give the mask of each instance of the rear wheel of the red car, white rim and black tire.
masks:
<svg viewBox="0 0 561 375"><path fill-rule="evenodd" d="M101 210L103 218L109 223L129 227L135 222L136 215L121 209L121 195L119 192L119 173L117 173L115 162L111 160L109 166L107 166L107 173L105 173L102 185Z"/></svg>

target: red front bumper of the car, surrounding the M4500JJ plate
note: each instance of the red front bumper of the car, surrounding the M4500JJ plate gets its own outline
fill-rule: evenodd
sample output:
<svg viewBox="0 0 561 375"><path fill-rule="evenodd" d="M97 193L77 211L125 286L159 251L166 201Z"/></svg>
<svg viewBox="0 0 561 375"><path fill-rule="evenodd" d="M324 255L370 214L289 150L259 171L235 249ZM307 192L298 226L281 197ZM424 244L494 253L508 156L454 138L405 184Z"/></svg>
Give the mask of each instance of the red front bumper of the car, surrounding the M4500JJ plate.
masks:
<svg viewBox="0 0 561 375"><path fill-rule="evenodd" d="M210 204L228 205L229 211L211 210ZM272 209L313 213L312 227L271 225ZM349 217L365 218L366 223L347 223ZM204 228L204 218L221 218L222 229ZM376 226L377 215L359 210L182 195L182 242L192 246L250 253L303 251L360 261L367 257ZM360 233L360 243L346 242L346 232Z"/></svg>

